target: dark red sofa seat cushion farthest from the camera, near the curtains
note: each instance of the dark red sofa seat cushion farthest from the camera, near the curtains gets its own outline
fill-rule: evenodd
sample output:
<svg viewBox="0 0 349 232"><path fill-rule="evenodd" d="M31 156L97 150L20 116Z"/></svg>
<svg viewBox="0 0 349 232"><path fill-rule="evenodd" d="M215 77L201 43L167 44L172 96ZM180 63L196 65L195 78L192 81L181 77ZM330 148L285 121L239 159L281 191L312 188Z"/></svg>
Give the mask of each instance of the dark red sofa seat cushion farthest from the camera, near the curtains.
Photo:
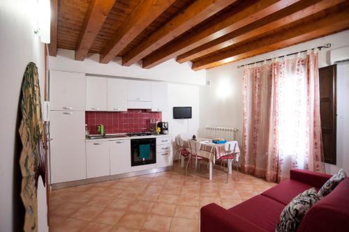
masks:
<svg viewBox="0 0 349 232"><path fill-rule="evenodd" d="M279 185L276 185L263 192L262 196L267 196L270 199L274 199L275 201L279 201L280 203L287 205L292 199L295 198L295 196L301 192L304 192L305 190L309 190L311 187L313 186L304 184L297 180L289 179L284 180L283 182L279 183Z"/></svg>

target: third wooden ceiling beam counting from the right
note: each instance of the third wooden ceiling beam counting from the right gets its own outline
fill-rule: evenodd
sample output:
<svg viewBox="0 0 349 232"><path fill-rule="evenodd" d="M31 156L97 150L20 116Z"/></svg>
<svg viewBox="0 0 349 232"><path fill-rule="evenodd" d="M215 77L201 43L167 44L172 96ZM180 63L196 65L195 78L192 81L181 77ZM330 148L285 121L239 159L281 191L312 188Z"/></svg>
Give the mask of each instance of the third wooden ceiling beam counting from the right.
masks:
<svg viewBox="0 0 349 232"><path fill-rule="evenodd" d="M179 54L188 52L211 40L215 40L242 26L251 24L299 0L258 0L242 1L239 5L222 15L213 18L207 24L202 24L190 33L169 42L143 59L143 68L151 68Z"/></svg>

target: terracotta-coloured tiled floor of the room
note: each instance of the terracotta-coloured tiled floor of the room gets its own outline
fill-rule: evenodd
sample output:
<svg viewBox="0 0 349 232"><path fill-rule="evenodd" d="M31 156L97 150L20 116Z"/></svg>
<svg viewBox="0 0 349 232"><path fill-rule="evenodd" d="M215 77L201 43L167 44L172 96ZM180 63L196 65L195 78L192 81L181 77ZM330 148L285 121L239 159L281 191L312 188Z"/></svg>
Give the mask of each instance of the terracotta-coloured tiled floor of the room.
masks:
<svg viewBox="0 0 349 232"><path fill-rule="evenodd" d="M184 177L174 170L54 190L50 231L197 232L200 207L215 202L231 208L275 185L242 173L236 180L236 172L227 184L219 169L211 181Z"/></svg>

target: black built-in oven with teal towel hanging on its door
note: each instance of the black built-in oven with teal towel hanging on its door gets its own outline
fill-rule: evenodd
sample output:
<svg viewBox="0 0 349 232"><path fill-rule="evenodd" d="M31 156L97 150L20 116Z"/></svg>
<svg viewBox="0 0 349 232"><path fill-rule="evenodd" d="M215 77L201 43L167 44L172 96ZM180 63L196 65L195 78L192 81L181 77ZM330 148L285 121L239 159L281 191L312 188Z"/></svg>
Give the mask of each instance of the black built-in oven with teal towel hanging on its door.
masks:
<svg viewBox="0 0 349 232"><path fill-rule="evenodd" d="M131 166L156 163L156 138L131 139Z"/></svg>

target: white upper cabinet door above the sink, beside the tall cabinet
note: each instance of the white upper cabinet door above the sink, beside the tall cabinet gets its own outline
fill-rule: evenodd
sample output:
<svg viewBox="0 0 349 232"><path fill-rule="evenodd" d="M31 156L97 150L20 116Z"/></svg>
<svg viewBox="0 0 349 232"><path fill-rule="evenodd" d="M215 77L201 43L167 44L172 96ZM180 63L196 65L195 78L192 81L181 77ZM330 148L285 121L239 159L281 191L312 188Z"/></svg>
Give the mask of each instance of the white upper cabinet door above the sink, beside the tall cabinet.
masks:
<svg viewBox="0 0 349 232"><path fill-rule="evenodd" d="M86 77L86 110L107 111L107 78Z"/></svg>

